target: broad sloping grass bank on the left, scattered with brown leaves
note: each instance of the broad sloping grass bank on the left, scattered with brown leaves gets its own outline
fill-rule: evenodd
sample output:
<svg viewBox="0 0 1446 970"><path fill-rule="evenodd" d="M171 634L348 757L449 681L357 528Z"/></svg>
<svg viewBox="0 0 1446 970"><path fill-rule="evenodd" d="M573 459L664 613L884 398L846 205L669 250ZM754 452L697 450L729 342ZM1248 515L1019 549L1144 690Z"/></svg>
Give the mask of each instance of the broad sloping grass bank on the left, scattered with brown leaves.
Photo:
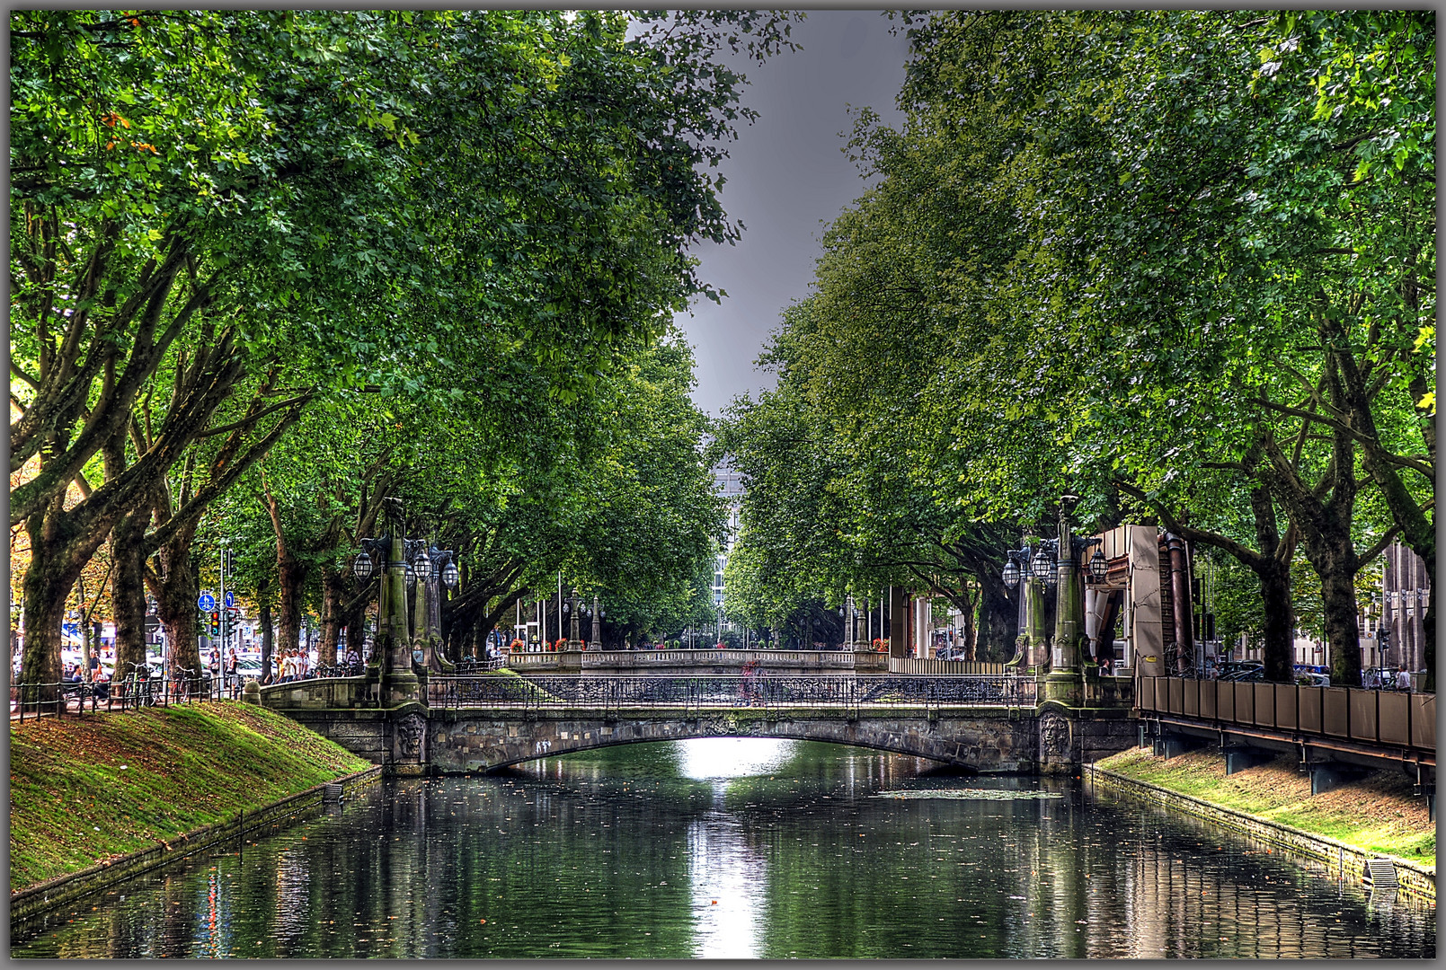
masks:
<svg viewBox="0 0 1446 970"><path fill-rule="evenodd" d="M10 726L10 889L369 768L253 704Z"/></svg>

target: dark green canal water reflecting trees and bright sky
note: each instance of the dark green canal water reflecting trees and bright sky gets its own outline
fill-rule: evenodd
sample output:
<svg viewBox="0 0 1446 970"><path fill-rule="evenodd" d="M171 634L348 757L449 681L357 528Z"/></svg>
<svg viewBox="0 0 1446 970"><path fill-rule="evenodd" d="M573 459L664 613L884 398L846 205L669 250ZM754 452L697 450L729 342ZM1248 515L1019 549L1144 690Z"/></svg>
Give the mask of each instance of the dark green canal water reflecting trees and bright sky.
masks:
<svg viewBox="0 0 1446 970"><path fill-rule="evenodd" d="M1434 957L1436 911L1077 781L810 742L398 781L13 957Z"/></svg>

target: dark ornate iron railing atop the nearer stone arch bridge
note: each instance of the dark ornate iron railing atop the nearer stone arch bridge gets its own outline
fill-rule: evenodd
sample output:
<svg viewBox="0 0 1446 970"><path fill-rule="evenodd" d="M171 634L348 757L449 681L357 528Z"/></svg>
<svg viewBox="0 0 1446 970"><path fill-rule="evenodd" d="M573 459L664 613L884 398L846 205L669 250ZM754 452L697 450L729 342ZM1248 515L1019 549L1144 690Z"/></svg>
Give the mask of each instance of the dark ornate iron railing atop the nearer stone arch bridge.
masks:
<svg viewBox="0 0 1446 970"><path fill-rule="evenodd" d="M431 707L1034 707L1022 677L458 677L432 675Z"/></svg>

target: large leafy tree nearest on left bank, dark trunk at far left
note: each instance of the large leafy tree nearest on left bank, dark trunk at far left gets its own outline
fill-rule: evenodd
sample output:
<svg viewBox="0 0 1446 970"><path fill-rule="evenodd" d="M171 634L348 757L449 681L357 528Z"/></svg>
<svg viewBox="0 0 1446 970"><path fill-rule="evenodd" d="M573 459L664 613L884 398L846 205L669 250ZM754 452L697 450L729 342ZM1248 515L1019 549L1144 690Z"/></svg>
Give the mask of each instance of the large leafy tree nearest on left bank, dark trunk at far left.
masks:
<svg viewBox="0 0 1446 970"><path fill-rule="evenodd" d="M143 544L185 575L197 516L318 396L455 399L457 344L502 319L500 343L573 395L609 345L659 332L701 288L685 244L735 231L696 171L737 119L743 78L713 61L724 25L761 52L787 29L752 13L632 39L610 13L17 13L12 452L39 465L12 525L45 549L26 677L54 679L55 594L114 526L134 545L149 522ZM215 422L247 382L279 400ZM137 441L158 387L171 400ZM223 432L224 461L192 478L188 450ZM64 509L107 448L106 481ZM158 506L178 463L194 489Z"/></svg>

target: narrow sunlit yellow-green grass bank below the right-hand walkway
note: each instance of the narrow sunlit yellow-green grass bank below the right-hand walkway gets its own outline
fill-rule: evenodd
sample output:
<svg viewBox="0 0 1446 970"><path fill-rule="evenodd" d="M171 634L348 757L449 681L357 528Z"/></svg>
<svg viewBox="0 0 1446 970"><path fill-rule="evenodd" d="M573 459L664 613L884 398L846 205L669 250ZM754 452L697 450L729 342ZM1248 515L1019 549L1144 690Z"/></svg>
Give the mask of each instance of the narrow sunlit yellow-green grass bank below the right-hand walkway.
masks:
<svg viewBox="0 0 1446 970"><path fill-rule="evenodd" d="M1096 768L1365 851L1436 864L1436 824L1427 818L1426 799L1411 795L1411 781L1400 771L1374 772L1312 797L1310 778L1296 771L1291 755L1229 778L1225 759L1213 752L1165 759L1155 757L1148 747L1134 747L1098 762Z"/></svg>

